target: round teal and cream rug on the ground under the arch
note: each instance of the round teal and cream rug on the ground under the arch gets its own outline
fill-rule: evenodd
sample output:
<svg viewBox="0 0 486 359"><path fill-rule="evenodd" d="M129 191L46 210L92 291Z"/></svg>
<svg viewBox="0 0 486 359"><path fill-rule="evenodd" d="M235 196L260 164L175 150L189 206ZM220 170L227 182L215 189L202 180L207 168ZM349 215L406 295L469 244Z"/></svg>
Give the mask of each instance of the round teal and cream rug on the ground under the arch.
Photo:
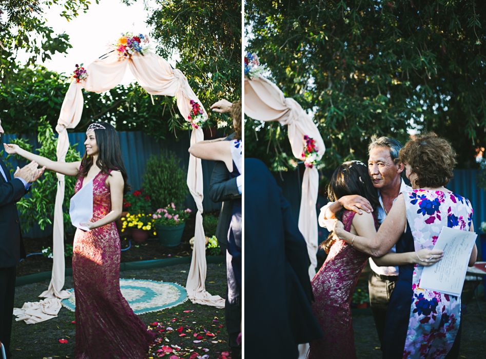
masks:
<svg viewBox="0 0 486 359"><path fill-rule="evenodd" d="M120 279L120 290L135 314L155 312L175 307L187 300L186 289L179 284L138 279ZM61 301L69 310L76 308L74 289L71 296Z"/></svg>

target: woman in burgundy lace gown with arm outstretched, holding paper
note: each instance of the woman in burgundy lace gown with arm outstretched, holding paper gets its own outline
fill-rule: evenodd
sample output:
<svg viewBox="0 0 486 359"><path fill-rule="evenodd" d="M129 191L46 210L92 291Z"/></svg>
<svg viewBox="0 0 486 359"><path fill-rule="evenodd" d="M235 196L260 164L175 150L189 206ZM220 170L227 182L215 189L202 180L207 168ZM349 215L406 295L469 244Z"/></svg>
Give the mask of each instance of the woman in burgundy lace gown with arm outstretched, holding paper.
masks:
<svg viewBox="0 0 486 359"><path fill-rule="evenodd" d="M47 170L78 176L75 192L93 181L93 218L83 224L90 231L77 229L73 246L76 359L144 358L155 334L120 291L120 236L114 221L129 186L115 129L108 123L90 125L81 162L54 162L8 146L8 153L35 158Z"/></svg>

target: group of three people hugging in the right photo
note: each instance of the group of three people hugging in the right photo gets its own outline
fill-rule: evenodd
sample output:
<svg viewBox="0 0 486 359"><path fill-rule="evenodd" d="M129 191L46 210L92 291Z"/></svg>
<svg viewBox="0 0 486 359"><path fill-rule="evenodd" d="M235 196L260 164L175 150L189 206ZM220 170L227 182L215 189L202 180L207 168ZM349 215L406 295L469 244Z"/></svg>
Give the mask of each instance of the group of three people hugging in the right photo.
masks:
<svg viewBox="0 0 486 359"><path fill-rule="evenodd" d="M432 250L441 228L474 231L469 200L444 187L453 177L454 150L430 133L403 148L374 136L368 151L367 165L336 169L328 189L335 202L321 209L321 226L338 221L331 222L323 243L328 256L312 280L313 312L325 335L310 343L308 358L356 358L349 304L368 258L383 358L457 358L460 297L419 288L423 267L442 259L442 251ZM469 266L476 255L474 245Z"/></svg>

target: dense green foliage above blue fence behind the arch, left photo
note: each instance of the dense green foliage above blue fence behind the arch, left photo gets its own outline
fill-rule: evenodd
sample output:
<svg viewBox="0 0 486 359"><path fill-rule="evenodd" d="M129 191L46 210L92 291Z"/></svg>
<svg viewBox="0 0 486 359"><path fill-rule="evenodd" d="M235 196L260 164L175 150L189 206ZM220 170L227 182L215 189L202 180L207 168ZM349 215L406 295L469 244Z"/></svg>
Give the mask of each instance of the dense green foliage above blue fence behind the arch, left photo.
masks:
<svg viewBox="0 0 486 359"><path fill-rule="evenodd" d="M6 133L36 134L37 121L47 116L55 128L70 79L39 66L23 67L15 86L0 88L0 113ZM165 138L179 128L180 116L174 97L150 95L138 84L119 85L103 92L86 92L83 114L74 132L86 130L93 122L106 121L118 131L144 131Z"/></svg>

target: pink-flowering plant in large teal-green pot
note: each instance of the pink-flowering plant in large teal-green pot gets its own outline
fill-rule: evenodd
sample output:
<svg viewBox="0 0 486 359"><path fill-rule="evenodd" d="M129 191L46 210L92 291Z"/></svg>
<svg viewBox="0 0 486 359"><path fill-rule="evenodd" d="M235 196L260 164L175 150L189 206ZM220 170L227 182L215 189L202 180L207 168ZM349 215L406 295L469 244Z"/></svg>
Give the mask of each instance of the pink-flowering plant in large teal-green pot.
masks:
<svg viewBox="0 0 486 359"><path fill-rule="evenodd" d="M175 247L181 243L185 220L189 213L189 208L184 211L178 210L176 205L171 203L165 208L159 208L152 215L161 246Z"/></svg>

